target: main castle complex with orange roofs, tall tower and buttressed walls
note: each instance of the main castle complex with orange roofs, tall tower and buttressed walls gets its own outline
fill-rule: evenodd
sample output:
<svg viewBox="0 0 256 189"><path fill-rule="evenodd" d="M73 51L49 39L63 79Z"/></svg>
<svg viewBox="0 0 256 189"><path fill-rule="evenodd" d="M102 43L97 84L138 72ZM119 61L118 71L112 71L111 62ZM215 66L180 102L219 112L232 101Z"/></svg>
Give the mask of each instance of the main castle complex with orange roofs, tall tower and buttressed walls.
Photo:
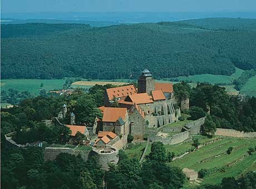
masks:
<svg viewBox="0 0 256 189"><path fill-rule="evenodd" d="M143 140L147 128L157 128L180 117L180 109L175 110L173 105L173 84L155 82L147 69L141 72L137 83L137 88L128 85L106 89L105 106L99 107L104 115L102 130L121 136L122 147L129 133L134 140Z"/></svg>

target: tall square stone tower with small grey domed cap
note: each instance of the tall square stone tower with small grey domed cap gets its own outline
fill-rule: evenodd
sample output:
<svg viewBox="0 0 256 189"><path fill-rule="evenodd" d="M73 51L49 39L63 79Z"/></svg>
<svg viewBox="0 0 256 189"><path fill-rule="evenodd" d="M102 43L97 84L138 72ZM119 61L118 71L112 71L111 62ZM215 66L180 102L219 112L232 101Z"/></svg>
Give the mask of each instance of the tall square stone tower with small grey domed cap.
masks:
<svg viewBox="0 0 256 189"><path fill-rule="evenodd" d="M138 93L147 93L155 90L155 80L148 69L144 69L138 79Z"/></svg>

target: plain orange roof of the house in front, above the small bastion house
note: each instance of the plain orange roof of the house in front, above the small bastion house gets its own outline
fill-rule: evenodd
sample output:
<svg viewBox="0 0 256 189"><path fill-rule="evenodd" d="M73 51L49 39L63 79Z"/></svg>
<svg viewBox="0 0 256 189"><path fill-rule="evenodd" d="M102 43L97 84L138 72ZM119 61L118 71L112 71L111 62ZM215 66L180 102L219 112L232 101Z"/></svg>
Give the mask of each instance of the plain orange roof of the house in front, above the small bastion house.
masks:
<svg viewBox="0 0 256 189"><path fill-rule="evenodd" d="M116 122L120 117L122 118L122 120L125 120L126 113L126 108L105 107L102 121Z"/></svg>

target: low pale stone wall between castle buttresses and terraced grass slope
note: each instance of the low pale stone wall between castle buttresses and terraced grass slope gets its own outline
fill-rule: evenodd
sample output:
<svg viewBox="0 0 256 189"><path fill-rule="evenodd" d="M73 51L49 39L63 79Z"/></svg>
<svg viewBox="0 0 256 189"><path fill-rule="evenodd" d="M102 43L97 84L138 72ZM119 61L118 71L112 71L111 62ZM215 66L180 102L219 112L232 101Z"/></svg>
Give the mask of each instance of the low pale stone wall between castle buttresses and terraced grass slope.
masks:
<svg viewBox="0 0 256 189"><path fill-rule="evenodd" d="M164 145L175 145L189 138L189 132L181 132L172 137L149 136L150 142L163 142Z"/></svg>

